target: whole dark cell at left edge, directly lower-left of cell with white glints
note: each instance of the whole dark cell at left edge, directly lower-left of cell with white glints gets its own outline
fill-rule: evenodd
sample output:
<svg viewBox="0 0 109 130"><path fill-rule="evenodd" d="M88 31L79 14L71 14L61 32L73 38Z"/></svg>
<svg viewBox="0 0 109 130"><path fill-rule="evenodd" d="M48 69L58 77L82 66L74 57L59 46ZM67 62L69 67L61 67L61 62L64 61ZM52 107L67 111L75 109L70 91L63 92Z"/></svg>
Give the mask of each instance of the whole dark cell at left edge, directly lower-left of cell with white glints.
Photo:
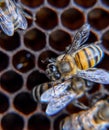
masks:
<svg viewBox="0 0 109 130"><path fill-rule="evenodd" d="M14 93L21 89L23 85L22 76L13 70L6 71L0 78L1 87L9 93Z"/></svg>

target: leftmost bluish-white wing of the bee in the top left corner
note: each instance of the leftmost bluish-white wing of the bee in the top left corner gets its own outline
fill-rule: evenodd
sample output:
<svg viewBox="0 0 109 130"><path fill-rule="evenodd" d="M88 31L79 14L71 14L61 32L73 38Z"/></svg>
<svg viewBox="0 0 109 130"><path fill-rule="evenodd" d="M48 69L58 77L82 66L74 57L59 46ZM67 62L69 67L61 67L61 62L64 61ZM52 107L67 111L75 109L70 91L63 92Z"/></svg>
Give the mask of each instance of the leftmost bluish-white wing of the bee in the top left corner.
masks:
<svg viewBox="0 0 109 130"><path fill-rule="evenodd" d="M0 27L8 36L12 36L14 33L14 25L12 21L4 14L0 9Z"/></svg>

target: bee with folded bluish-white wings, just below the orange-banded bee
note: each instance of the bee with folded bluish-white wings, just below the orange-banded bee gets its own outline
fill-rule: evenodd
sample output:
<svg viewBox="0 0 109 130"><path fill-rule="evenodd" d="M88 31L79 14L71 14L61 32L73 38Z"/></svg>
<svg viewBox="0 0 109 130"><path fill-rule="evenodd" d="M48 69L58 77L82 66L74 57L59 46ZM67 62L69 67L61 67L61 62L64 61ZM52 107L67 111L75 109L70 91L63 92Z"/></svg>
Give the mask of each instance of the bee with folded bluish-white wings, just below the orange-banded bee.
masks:
<svg viewBox="0 0 109 130"><path fill-rule="evenodd" d="M33 88L32 96L35 101L48 103L46 114L52 116L64 109L71 102L79 108L88 109L87 106L78 101L88 89L89 85L87 87L87 82L82 78L76 77L63 82L59 80L53 83L40 84Z"/></svg>

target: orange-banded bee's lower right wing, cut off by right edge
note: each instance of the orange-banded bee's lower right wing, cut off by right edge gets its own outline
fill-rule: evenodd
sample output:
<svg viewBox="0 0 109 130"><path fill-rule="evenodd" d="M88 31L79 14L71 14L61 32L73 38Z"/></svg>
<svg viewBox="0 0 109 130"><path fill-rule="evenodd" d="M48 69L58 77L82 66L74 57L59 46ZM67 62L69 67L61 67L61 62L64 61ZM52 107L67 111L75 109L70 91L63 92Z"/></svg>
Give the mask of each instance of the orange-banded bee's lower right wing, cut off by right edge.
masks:
<svg viewBox="0 0 109 130"><path fill-rule="evenodd" d="M103 69L90 68L77 73L77 77L100 84L109 84L109 72Z"/></svg>

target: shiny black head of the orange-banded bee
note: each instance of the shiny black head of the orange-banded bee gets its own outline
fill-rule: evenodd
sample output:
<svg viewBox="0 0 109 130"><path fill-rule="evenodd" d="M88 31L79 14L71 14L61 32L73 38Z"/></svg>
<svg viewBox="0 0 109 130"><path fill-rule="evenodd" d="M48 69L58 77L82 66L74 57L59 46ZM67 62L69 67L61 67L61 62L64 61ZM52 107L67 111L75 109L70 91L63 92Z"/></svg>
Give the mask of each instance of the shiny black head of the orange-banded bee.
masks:
<svg viewBox="0 0 109 130"><path fill-rule="evenodd" d="M61 74L54 63L48 64L47 69L46 69L46 74L48 78L51 80L58 80L61 78Z"/></svg>

